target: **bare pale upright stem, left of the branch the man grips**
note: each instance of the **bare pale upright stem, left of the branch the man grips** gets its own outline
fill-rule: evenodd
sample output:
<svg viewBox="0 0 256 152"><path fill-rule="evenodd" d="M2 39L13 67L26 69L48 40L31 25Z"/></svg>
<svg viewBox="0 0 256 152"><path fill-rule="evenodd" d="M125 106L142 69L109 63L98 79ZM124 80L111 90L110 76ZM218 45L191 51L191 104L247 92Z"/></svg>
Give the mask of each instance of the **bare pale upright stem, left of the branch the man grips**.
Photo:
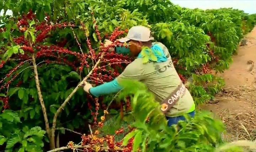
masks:
<svg viewBox="0 0 256 152"><path fill-rule="evenodd" d="M36 66L36 59L34 57L34 54L32 54L32 63L33 63L34 73L35 73L34 77L35 77L35 80L36 80L37 94L38 94L39 102L40 102L41 107L42 107L44 122L45 122L45 125L46 125L46 132L48 134L48 137L50 138L49 121L48 121L48 118L47 118L46 108L44 106L43 96L42 96L41 89L40 89L39 78L38 78L38 73L37 73L37 66Z"/></svg>

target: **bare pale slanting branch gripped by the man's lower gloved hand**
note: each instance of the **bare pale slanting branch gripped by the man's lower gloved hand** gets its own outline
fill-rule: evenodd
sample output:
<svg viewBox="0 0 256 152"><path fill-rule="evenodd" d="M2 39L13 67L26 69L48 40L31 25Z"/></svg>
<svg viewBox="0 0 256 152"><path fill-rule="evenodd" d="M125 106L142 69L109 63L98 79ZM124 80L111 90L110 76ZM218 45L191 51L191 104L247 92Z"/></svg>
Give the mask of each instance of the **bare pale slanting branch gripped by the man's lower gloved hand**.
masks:
<svg viewBox="0 0 256 152"><path fill-rule="evenodd" d="M75 92L79 89L80 86L82 86L84 84L84 81L87 80L87 78L90 77L90 75L92 74L92 72L94 71L94 69L97 67L97 65L100 63L102 57L104 56L104 52L101 54L101 57L98 59L97 63L94 65L94 67L91 69L91 71L89 72L89 74L75 87L75 89L69 94L68 98L66 98L66 100L62 103L62 105L59 107L59 109L57 110L57 112L55 113L54 117L53 117L53 125L52 125L52 133L51 133L51 141L54 141L54 136L55 136L55 127L56 127L56 122L57 122L57 118L59 116L59 113L64 109L65 105L69 102L69 100L71 99L71 97L75 94ZM53 146L53 145L52 145ZM55 147L55 143L54 143L54 147ZM51 148L54 148L51 147Z"/></svg>

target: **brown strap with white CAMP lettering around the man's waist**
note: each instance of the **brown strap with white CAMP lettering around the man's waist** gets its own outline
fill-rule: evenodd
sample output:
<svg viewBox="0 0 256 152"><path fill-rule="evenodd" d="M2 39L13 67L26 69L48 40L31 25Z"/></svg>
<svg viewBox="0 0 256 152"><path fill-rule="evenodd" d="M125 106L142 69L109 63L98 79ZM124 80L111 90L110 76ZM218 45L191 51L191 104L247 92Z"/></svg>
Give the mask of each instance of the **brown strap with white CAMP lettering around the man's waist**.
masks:
<svg viewBox="0 0 256 152"><path fill-rule="evenodd" d="M181 84L161 103L161 111L166 113L172 106L174 106L178 100L185 94L187 88L181 82Z"/></svg>

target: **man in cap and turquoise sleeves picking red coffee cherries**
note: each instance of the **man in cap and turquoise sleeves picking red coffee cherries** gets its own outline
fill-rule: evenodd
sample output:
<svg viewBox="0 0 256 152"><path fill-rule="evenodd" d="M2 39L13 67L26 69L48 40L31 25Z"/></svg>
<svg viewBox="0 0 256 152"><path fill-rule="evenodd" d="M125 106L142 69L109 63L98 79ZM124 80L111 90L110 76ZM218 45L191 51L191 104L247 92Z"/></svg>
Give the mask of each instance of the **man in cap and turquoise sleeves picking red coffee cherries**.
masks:
<svg viewBox="0 0 256 152"><path fill-rule="evenodd" d="M116 93L122 89L119 82L123 79L138 80L146 84L149 91L155 95L156 101L161 104L161 111L164 112L168 125L176 124L185 120L182 115L188 113L194 116L195 105L190 92L182 83L171 60L170 53L165 45L160 42L151 42L150 30L143 26L134 26L126 37L119 39L119 42L129 42L129 47L115 47L108 51L116 53L132 54L137 58L127 65L124 71L113 81L101 84L96 87L85 82L84 90L87 93L98 97L103 94ZM112 42L106 40L105 46ZM155 54L157 61L143 63L142 47L149 47ZM147 51L147 50L146 50Z"/></svg>

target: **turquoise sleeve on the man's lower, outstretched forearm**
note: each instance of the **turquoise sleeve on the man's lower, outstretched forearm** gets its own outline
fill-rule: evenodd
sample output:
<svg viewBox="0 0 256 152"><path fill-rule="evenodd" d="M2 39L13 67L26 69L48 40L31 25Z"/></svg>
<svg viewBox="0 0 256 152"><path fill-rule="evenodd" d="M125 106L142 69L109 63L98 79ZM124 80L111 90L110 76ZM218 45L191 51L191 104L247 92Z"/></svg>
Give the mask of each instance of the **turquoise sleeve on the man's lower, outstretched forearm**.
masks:
<svg viewBox="0 0 256 152"><path fill-rule="evenodd" d="M95 97L99 97L103 94L116 93L122 88L123 87L121 87L115 79L113 81L101 84L100 86L90 88L90 93Z"/></svg>

